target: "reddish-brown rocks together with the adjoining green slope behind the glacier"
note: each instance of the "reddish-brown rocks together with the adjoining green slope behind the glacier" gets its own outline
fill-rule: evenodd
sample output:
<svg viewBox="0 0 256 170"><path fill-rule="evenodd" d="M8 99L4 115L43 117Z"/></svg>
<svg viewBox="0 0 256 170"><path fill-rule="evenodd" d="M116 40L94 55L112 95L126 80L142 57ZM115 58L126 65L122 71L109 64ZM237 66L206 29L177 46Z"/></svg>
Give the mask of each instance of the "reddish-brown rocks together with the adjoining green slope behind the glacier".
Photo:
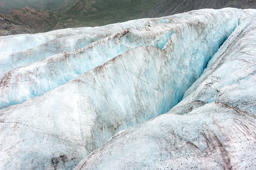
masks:
<svg viewBox="0 0 256 170"><path fill-rule="evenodd" d="M138 19L144 10L149 10L160 0L69 0L56 12L24 7L12 10L7 18L28 25L37 32L62 28L101 26Z"/></svg>

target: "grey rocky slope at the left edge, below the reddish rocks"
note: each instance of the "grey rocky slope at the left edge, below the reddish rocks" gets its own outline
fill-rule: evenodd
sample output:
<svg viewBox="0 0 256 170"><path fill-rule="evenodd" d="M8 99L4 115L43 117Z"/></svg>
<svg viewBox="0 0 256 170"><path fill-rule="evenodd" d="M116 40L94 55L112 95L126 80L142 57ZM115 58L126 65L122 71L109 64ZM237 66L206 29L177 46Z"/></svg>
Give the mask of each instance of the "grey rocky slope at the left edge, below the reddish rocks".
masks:
<svg viewBox="0 0 256 170"><path fill-rule="evenodd" d="M5 35L16 35L24 33L37 33L34 29L29 28L23 24L17 23L10 19L5 18L3 14L0 13L0 36Z"/></svg>

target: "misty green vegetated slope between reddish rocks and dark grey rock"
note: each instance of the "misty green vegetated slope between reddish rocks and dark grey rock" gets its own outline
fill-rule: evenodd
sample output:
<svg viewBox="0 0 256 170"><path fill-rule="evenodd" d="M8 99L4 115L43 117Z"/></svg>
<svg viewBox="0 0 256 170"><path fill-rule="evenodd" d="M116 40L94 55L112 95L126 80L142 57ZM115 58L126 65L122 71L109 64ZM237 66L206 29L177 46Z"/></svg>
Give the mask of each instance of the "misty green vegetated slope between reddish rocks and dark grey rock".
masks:
<svg viewBox="0 0 256 170"><path fill-rule="evenodd" d="M161 0L70 0L59 9L60 21L72 18L85 26L100 26L138 19Z"/></svg>

